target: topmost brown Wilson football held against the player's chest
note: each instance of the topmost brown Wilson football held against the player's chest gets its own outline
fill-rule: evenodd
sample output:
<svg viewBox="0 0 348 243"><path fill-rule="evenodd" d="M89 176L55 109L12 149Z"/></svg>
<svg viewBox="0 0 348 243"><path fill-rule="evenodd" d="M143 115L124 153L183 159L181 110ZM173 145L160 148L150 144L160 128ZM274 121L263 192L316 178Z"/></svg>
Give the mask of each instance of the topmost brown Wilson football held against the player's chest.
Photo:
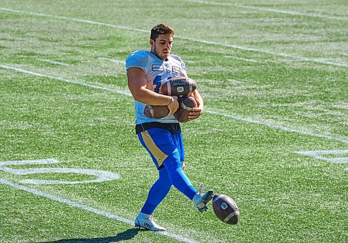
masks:
<svg viewBox="0 0 348 243"><path fill-rule="evenodd" d="M197 84L191 78L184 76L174 77L161 84L159 92L177 98L186 97L191 92L195 91Z"/></svg>

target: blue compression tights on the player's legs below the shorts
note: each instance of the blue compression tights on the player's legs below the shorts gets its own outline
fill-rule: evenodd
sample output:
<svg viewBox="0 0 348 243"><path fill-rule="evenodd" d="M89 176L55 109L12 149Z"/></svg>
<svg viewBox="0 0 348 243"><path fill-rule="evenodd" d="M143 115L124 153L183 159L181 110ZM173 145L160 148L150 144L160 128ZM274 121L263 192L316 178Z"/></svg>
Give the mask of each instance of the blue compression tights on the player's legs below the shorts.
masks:
<svg viewBox="0 0 348 243"><path fill-rule="evenodd" d="M189 178L184 174L181 166L179 153L173 153L163 162L164 167L159 169L159 178L152 185L141 212L152 215L155 208L166 197L171 186L174 185L177 190L185 194L189 199L197 194Z"/></svg>

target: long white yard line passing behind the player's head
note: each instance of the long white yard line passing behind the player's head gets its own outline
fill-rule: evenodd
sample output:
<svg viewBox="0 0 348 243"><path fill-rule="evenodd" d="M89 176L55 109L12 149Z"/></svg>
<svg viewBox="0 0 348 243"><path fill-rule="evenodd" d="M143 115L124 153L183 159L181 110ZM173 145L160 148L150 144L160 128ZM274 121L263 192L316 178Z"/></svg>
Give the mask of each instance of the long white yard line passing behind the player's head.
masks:
<svg viewBox="0 0 348 243"><path fill-rule="evenodd" d="M141 30L139 28L131 28L131 27L120 26L120 25L115 25L115 24L106 24L106 23L102 23L102 22L93 22L93 21L85 20L85 19L77 19L77 18L74 18L74 17L63 17L63 16L58 16L58 15L47 15L47 14L42 14L42 13L38 13L38 12L28 12L28 11L15 10L15 9L10 9L10 8L0 8L0 10L10 11L10 12L19 12L19 13L24 13L24 14L29 14L29 15L36 15L36 16L41 16L41 17L52 17L52 18L56 18L56 19L72 20L72 21L75 21L75 22L81 22L81 23L87 23L87 24L96 24L96 25L101 25L101 26L109 26L109 27L112 27L112 28L125 29L125 30L128 30L128 31L139 31L139 32L142 32L142 33L150 33L150 31L144 31L144 30ZM235 44L223 44L223 43L219 43L219 42L212 42L212 41L208 41L208 40L200 40L200 39L195 39L195 38L191 38L191 37L182 37L182 36L177 36L177 35L175 35L175 38L181 39L181 40L189 40L191 42L199 42L199 43L203 43L203 44L212 44L212 45L219 46L219 47L229 47L229 48L233 48L233 49L240 49L240 50L243 50L243 51L254 51L254 52L265 53L265 54L269 54L269 55L273 55L273 56L280 56L280 57L285 57L285 58L300 59L300 60L304 60L304 61L308 61L308 62L317 62L317 63L322 63L322 64L325 64L325 65L334 65L334 66L338 66L338 67L348 67L348 64L345 64L345 63L327 62L325 60L320 60L320 59L305 58L305 57L301 57L301 56L292 56L292 55L288 55L286 53L276 53L276 52L273 52L273 51L265 51L265 50L262 50L262 49L256 49L256 48L251 48L251 47L242 47L242 46L238 46L238 45L235 45Z"/></svg>

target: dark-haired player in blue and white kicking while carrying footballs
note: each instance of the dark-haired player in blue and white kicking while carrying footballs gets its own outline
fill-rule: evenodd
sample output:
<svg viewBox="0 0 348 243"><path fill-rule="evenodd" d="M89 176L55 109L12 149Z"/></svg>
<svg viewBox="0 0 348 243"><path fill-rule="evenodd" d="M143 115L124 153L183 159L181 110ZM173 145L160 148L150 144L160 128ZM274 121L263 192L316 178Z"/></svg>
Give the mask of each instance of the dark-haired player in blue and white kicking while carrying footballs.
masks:
<svg viewBox="0 0 348 243"><path fill-rule="evenodd" d="M177 97L159 94L161 83L175 76L187 76L184 62L171 54L174 31L165 24L153 27L150 35L150 51L135 51L126 60L128 87L134 97L136 134L141 144L155 162L159 171L158 180L152 185L135 226L151 231L166 231L155 223L152 213L168 194L171 186L186 195L200 212L207 210L207 203L214 192L198 192L184 174L184 142L179 122L173 113L179 107ZM203 99L197 90L193 96L198 108L189 113L189 120L203 114ZM168 106L169 113L161 119L146 117L145 105Z"/></svg>

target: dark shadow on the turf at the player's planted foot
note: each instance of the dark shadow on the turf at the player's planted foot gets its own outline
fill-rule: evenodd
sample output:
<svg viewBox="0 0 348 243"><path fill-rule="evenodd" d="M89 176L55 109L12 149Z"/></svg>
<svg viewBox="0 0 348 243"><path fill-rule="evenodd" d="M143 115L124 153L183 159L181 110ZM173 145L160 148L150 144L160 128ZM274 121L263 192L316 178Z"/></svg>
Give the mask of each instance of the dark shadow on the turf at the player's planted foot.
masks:
<svg viewBox="0 0 348 243"><path fill-rule="evenodd" d="M56 240L54 242L44 243L109 243L109 242L120 242L122 240L133 239L139 231L145 231L138 228L129 228L127 231L118 233L116 236L102 237L102 238L90 238L90 239L67 239L67 240Z"/></svg>

